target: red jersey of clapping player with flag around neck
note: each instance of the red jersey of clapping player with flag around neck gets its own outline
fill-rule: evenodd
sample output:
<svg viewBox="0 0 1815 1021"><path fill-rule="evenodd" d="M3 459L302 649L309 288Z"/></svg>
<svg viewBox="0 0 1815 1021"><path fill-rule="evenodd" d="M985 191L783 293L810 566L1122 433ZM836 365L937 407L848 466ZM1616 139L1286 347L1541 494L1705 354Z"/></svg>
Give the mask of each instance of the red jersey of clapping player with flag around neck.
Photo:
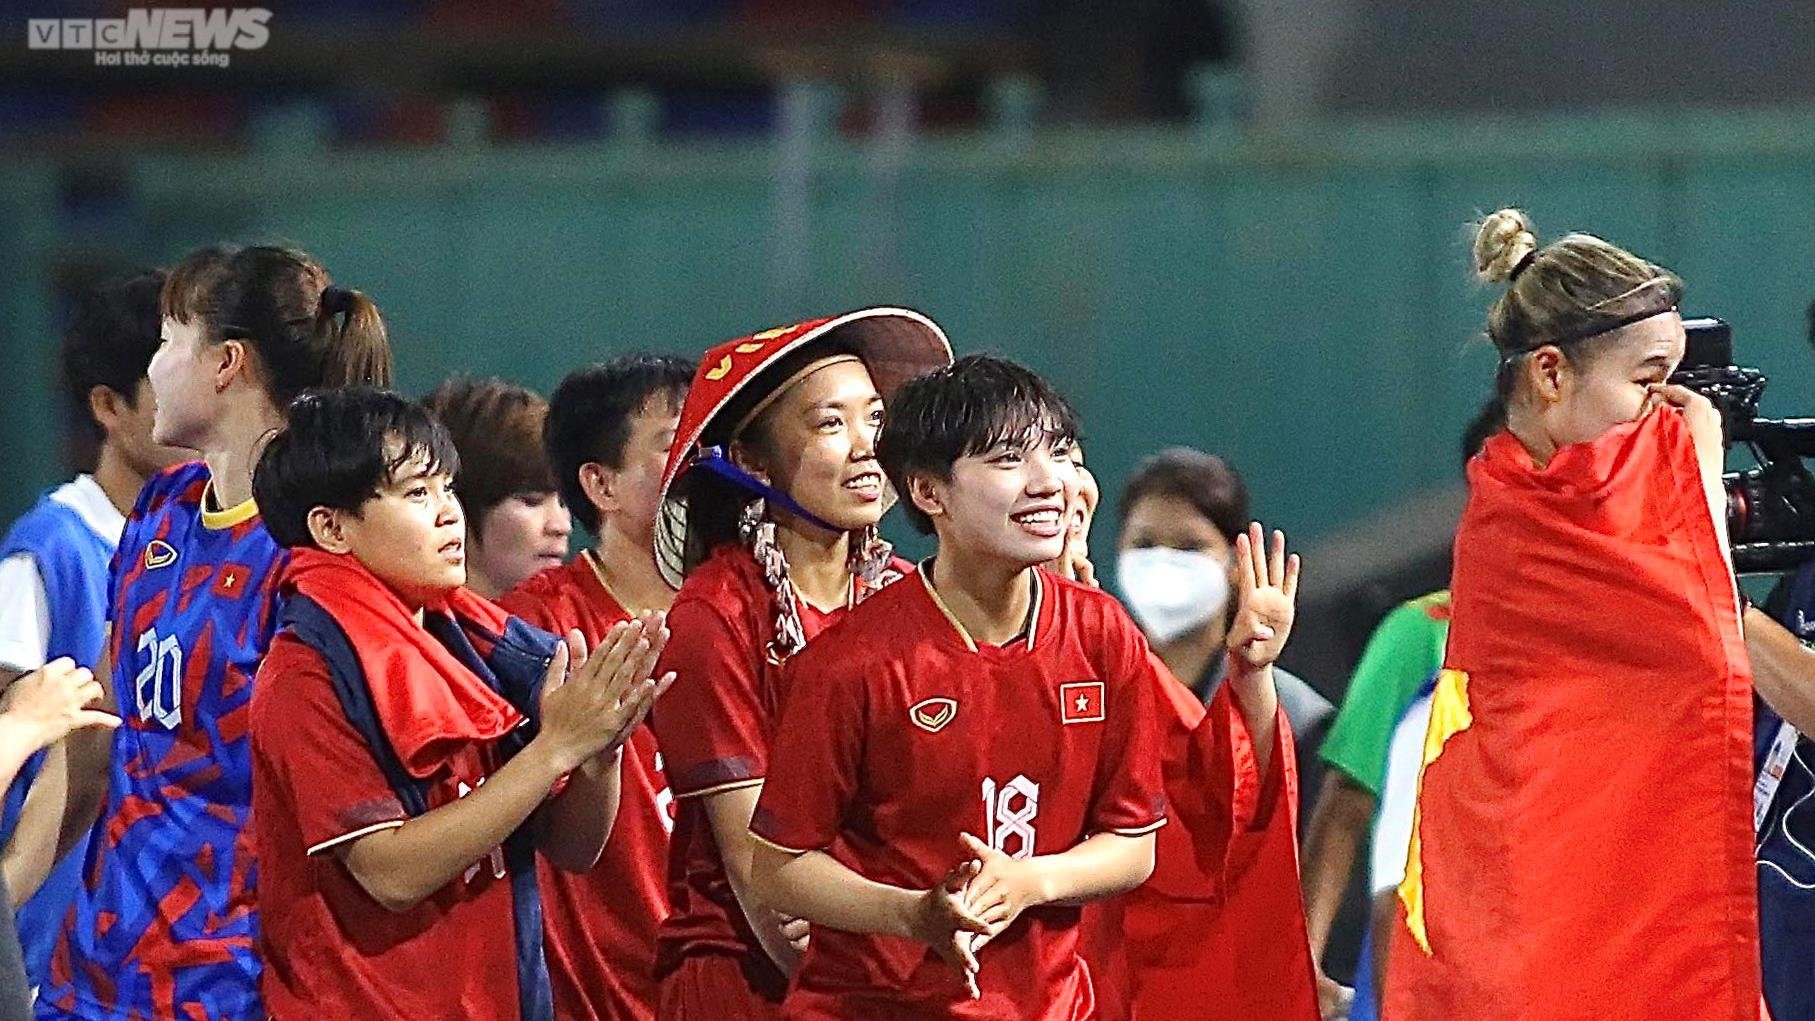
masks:
<svg viewBox="0 0 1815 1021"><path fill-rule="evenodd" d="M260 950L270 1017L515 1017L503 851L405 912L383 907L334 847L408 818L334 695L321 656L278 633L252 691ZM430 780L430 807L497 767L466 745Z"/></svg>

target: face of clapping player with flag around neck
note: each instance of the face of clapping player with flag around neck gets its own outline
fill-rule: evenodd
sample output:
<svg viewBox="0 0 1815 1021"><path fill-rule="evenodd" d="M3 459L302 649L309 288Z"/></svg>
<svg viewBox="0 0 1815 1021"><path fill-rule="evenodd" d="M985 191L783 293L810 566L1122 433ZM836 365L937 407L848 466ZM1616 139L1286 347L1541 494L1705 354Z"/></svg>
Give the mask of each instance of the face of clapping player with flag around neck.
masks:
<svg viewBox="0 0 1815 1021"><path fill-rule="evenodd" d="M314 508L310 531L330 553L352 553L408 606L466 582L466 519L454 481L425 455L403 462L358 511Z"/></svg>

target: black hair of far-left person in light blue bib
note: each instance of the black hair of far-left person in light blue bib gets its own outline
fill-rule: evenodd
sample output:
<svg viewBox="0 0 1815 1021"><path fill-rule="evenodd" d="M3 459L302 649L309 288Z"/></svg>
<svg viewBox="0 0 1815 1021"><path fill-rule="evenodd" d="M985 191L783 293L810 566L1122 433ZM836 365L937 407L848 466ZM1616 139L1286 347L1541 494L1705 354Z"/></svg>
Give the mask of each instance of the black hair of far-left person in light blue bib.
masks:
<svg viewBox="0 0 1815 1021"><path fill-rule="evenodd" d="M125 397L127 406L138 404L138 381L145 379L151 355L158 352L163 326L158 294L167 276L163 270L140 270L76 297L64 326L60 374L69 423L83 439L83 461L105 439L89 413L89 392L105 386Z"/></svg>

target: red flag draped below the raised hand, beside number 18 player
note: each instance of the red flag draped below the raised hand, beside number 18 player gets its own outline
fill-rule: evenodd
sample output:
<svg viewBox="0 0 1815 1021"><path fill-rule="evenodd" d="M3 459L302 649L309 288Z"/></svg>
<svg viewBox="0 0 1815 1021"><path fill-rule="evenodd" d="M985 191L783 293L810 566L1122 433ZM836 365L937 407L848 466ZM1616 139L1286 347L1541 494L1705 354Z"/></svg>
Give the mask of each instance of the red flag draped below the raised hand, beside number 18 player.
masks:
<svg viewBox="0 0 1815 1021"><path fill-rule="evenodd" d="M1162 676L1171 676L1162 667ZM1085 910L1085 958L1111 1021L1316 1021L1298 887L1298 767L1278 716L1261 776L1229 686L1209 707L1169 682L1169 825L1153 876Z"/></svg>

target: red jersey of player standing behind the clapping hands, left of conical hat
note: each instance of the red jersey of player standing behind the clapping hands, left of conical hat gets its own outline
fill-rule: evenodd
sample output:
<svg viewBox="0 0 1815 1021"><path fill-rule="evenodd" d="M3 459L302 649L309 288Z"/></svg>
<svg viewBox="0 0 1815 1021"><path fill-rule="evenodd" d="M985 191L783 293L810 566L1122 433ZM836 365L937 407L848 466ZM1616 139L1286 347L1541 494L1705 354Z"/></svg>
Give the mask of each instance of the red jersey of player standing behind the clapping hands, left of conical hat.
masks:
<svg viewBox="0 0 1815 1021"><path fill-rule="evenodd" d="M592 557L588 549L548 568L499 606L557 635L579 629L597 647L630 613L604 588ZM637 727L624 747L617 822L599 865L575 874L539 860L548 979L561 1021L655 1017L655 927L668 914L672 802L655 733Z"/></svg>

